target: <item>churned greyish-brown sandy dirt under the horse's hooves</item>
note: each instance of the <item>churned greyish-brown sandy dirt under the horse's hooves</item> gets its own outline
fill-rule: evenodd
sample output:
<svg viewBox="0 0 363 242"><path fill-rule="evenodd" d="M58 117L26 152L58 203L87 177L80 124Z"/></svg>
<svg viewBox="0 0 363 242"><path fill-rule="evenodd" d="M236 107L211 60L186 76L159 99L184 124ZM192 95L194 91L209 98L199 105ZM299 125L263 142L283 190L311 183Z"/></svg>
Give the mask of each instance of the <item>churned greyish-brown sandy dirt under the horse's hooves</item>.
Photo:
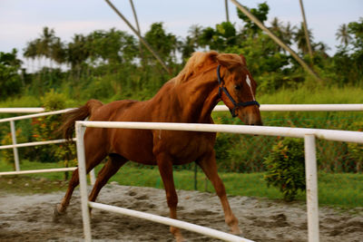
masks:
<svg viewBox="0 0 363 242"><path fill-rule="evenodd" d="M64 192L16 195L0 193L0 241L82 241L79 193L67 215L54 220ZM179 219L228 232L219 199L211 193L178 191ZM254 241L307 241L306 206L261 198L230 197L243 236ZM98 202L168 216L162 189L107 185ZM363 241L363 209L319 209L320 241ZM187 241L218 241L182 231ZM93 209L93 241L173 241L169 227Z"/></svg>

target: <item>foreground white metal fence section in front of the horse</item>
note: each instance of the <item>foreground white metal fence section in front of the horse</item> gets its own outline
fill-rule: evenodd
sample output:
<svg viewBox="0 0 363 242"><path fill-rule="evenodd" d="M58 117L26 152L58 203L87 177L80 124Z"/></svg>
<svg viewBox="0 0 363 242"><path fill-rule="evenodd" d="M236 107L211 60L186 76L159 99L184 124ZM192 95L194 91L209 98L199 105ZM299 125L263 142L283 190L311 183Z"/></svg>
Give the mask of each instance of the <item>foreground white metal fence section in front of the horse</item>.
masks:
<svg viewBox="0 0 363 242"><path fill-rule="evenodd" d="M228 125L228 124L197 124L197 123L166 123L166 122L123 122L123 121L76 121L76 142L77 157L80 177L81 203L83 214L83 233L86 241L91 241L91 227L88 208L99 208L128 216L141 218L140 212L132 210L118 209L112 206L103 206L88 201L86 169L84 160L83 135L86 127L93 128L118 128L118 129L142 129L142 130L168 130L168 131L204 131L204 132L230 132L240 134L257 134L268 136L284 136L303 138L305 140L305 167L306 167L306 184L307 184L307 206L308 206L308 233L309 242L319 241L319 212L318 212L318 176L317 176L317 159L315 139L336 140L346 142L363 143L363 132L358 131L332 131L304 128L282 128L282 127L259 127L249 125ZM144 215L145 219L147 218ZM162 218L160 218L162 219ZM152 219L149 219L152 220ZM152 220L155 221L155 220ZM161 222L161 221L157 221ZM172 224L170 221L164 220L163 224L181 227ZM193 225L182 227L184 229L193 229ZM226 239L229 241L248 241L245 238L236 237L220 237L211 235L209 232L193 230L204 235ZM224 233L223 233L224 234ZM239 239L239 240L234 240Z"/></svg>

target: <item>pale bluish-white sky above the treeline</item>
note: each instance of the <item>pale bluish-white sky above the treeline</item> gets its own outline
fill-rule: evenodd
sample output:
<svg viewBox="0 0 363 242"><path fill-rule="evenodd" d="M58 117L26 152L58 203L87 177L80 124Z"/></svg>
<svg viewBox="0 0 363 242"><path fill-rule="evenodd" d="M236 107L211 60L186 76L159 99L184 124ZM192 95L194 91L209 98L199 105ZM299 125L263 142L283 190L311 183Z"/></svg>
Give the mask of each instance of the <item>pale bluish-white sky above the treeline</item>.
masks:
<svg viewBox="0 0 363 242"><path fill-rule="evenodd" d="M129 0L112 0L120 12L134 24ZM266 2L270 6L267 26L274 17L284 24L299 25L302 15L299 0L239 0L241 5L256 7ZM185 37L192 24L215 26L226 20L224 0L133 0L142 33L155 22L163 22L168 33ZM339 25L363 17L363 0L303 0L308 27L314 42L328 44L329 53L339 44ZM241 24L236 7L229 2L231 23ZM70 42L74 34L89 34L94 30L115 27L132 31L103 0L0 0L0 52L13 48L22 57L25 45L39 37L43 27L53 28L62 41Z"/></svg>

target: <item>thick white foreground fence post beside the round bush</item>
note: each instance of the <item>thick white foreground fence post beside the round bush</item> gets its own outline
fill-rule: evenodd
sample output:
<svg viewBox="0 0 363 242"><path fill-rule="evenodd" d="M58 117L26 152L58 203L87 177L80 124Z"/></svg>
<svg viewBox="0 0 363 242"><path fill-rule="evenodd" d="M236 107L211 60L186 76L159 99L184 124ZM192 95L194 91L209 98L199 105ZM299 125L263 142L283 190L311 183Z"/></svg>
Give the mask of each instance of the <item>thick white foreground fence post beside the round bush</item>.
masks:
<svg viewBox="0 0 363 242"><path fill-rule="evenodd" d="M309 242L319 242L318 174L315 135L305 135L305 173Z"/></svg>

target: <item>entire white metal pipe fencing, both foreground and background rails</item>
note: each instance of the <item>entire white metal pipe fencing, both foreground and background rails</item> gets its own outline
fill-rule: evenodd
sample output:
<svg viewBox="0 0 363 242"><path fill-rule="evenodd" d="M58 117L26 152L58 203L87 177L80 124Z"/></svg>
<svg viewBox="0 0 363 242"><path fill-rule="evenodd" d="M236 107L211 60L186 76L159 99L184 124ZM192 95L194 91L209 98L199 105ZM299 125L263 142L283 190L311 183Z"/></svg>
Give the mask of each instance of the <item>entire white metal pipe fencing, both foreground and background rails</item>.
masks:
<svg viewBox="0 0 363 242"><path fill-rule="evenodd" d="M24 120L24 119L31 119L37 118L46 115L54 115L54 114L61 114L67 110L62 111L50 111L50 112L43 112L38 114L31 114L13 118L2 119L0 122L10 122L10 130L12 133L12 145L5 145L0 146L0 150L3 149L13 149L14 156L15 156L15 171L8 171L8 172L0 172L0 176L2 175L15 175L15 174L30 174L30 173L41 173L41 172L55 172L55 171L67 171L67 170L74 170L75 168L62 168L62 169L34 169L34 170L20 170L19 165L19 158L18 158L18 151L17 148L20 147L28 147L28 146L35 146L35 145L44 145L44 144L51 144L51 143L61 143L64 140L48 140L48 141L41 141L41 142L30 142L30 143L16 143L15 137L15 121ZM1 109L1 112L7 113L20 113L20 112L41 112L44 111L43 108L23 108L23 109ZM218 105L215 107L213 111L228 111L228 108L225 105ZM260 106L260 111L363 111L363 104L264 104ZM93 124L92 124L93 123ZM106 122L78 122L77 127L80 131L84 130L87 127L103 127L97 125L105 125ZM117 127L113 127L116 125ZM156 126L155 126L156 125ZM186 125L186 126L185 126ZM214 127L212 127L214 126ZM231 127L230 127L231 126ZM139 128L137 128L139 127ZM218 128L217 128L218 127ZM239 127L238 129L236 129ZM117 123L113 122L111 126L107 124L105 128L124 128L124 129L158 129L158 130L181 130L182 131L220 131L220 132L237 132L237 133L244 133L244 134L259 134L259 135L269 135L269 136L287 136L287 137L296 137L296 138L304 138L305 140L305 156L306 156L306 173L307 173L307 203L308 203L308 227L309 227L309 241L319 241L319 218L318 218L318 189L317 189L317 164L316 164L316 148L315 148L315 138L324 139L324 140L338 140L338 141L348 141L348 142L360 142L363 143L363 134L361 132L355 131L329 131L329 130L314 130L314 129L298 129L298 128L281 128L281 127L253 127L253 126L241 126L241 125L209 125L209 124L181 124L181 123L134 123L134 122L123 122ZM78 135L77 139L80 135ZM82 144L83 140L77 141L77 152L79 152L78 146ZM81 152L82 153L82 152ZM78 154L80 155L80 154ZM81 154L82 156L82 154ZM78 157L80 160L80 158ZM80 173L85 173L85 170L82 170L81 165L82 162L79 161ZM80 178L83 178L80 174ZM82 181L83 187L81 190L85 188L86 185L84 180ZM94 184L94 171L91 172L91 184ZM83 191L84 193L84 191ZM85 200L84 200L85 198ZM82 208L83 211L88 211L88 207L91 208L104 208L107 210L117 211L119 213L123 213L126 215L135 216L136 211L126 211L127 209L124 208L114 208L112 206L100 205L93 202L88 202L85 191L85 196L83 195L82 201ZM87 208L87 209L86 209ZM131 214L129 214L129 212ZM145 218L152 221L166 221L162 222L164 224L172 225L175 227L182 227L188 229L190 227L187 225L188 223L177 221L172 221L173 219L167 218L154 218L151 215L143 214L141 212L137 212L138 218ZM90 228L89 228L89 218L87 222L88 212L83 212L83 227L84 227L84 237L86 240L89 238L91 239ZM162 219L162 220L160 220ZM87 225L88 223L88 225ZM88 228L87 228L88 227ZM212 237L218 237L221 239L227 239L231 241L250 241L248 239L233 237L229 234L222 233L220 231L213 230L211 228L189 228L194 232L199 232L201 234L209 234ZM194 230L193 230L194 229ZM211 231L213 230L213 231ZM207 232L205 232L207 231ZM216 234L214 234L216 233ZM227 237L225 237L227 236ZM231 237L230 237L231 236ZM234 240L238 239L238 240ZM242 239L242 240L241 240Z"/></svg>

